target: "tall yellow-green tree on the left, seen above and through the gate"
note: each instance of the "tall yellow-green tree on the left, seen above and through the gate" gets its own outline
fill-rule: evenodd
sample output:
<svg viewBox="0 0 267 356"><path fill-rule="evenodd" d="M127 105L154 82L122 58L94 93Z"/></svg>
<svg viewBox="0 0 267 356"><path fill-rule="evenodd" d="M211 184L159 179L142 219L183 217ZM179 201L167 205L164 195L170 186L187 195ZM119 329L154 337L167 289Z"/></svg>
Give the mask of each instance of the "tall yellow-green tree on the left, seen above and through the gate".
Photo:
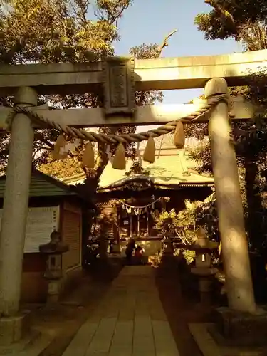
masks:
<svg viewBox="0 0 267 356"><path fill-rule="evenodd" d="M131 0L9 0L4 1L0 11L0 63L59 63L99 61L112 56L112 44L120 40L117 31L124 11ZM92 14L92 15L89 15ZM162 46L142 45L132 48L136 58L155 58ZM155 103L162 100L162 93L137 93L137 105ZM98 93L84 95L40 96L39 103L49 103L51 108L98 108L102 98ZM13 98L1 98L2 105L12 105ZM104 127L105 133L135 132L135 127ZM83 144L70 152L66 162L52 162L50 151L58 137L58 130L36 130L33 147L33 164L55 176L62 172L82 172L79 161ZM6 167L9 147L9 133L1 133L0 164ZM98 182L100 174L108 163L105 146L98 145L95 168L86 170L88 178ZM133 146L127 147L127 155L132 155ZM67 165L68 164L68 165Z"/></svg>

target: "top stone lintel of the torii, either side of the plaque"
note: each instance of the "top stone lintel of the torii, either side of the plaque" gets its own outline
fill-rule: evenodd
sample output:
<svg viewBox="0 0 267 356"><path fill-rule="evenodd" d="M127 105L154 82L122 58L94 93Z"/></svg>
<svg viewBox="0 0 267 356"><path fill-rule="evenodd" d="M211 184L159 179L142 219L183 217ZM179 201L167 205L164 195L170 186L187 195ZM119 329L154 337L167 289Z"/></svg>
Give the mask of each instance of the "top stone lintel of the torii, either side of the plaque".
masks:
<svg viewBox="0 0 267 356"><path fill-rule="evenodd" d="M135 90L204 88L210 78L226 78L229 86L246 84L249 71L267 66L267 50L223 56L135 60ZM90 93L101 88L105 62L0 66L0 95L21 86L40 94Z"/></svg>

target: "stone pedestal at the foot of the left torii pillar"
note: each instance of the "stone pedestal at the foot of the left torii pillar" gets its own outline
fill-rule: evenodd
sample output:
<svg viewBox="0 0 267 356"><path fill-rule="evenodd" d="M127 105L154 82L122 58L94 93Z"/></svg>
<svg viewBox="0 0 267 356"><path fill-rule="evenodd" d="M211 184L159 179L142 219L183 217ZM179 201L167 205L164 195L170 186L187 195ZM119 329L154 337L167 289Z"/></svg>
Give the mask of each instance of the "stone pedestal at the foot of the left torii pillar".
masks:
<svg viewBox="0 0 267 356"><path fill-rule="evenodd" d="M30 315L21 314L0 318L0 346L9 346L21 341L30 333Z"/></svg>

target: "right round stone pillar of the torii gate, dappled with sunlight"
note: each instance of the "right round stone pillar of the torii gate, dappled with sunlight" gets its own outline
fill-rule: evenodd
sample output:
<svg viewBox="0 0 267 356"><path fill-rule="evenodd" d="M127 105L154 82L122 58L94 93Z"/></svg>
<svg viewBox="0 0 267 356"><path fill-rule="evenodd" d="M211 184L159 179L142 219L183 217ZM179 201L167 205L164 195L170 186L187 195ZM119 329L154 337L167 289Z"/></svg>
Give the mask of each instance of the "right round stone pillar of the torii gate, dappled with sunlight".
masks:
<svg viewBox="0 0 267 356"><path fill-rule="evenodd" d="M214 78L205 87L205 96L228 93L226 80ZM236 153L231 143L229 105L223 101L212 110L209 120L211 160L216 189L219 231L226 273L229 308L239 312L254 313L251 268L248 241L244 226L244 211L236 165Z"/></svg>

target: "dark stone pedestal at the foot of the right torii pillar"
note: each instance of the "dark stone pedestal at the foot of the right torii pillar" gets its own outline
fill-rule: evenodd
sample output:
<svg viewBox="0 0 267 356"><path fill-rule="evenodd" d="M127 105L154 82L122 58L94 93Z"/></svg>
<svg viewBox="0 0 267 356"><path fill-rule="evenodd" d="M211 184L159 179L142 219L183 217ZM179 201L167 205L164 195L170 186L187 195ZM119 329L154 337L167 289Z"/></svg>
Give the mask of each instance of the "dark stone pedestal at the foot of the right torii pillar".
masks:
<svg viewBox="0 0 267 356"><path fill-rule="evenodd" d="M211 334L216 339L216 332ZM229 308L216 310L216 331L228 345L259 347L267 345L267 312L241 313Z"/></svg>

